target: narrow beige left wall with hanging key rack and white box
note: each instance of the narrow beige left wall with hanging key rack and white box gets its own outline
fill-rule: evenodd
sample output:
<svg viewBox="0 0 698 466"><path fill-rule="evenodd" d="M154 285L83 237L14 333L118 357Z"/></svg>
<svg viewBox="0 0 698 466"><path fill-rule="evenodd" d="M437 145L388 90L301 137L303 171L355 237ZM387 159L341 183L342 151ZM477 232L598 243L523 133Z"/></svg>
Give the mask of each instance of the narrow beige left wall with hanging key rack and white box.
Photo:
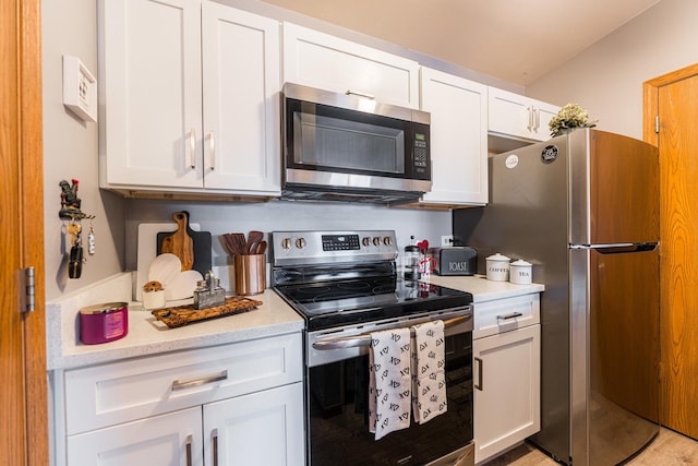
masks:
<svg viewBox="0 0 698 466"><path fill-rule="evenodd" d="M82 60L97 75L96 1L45 0L43 2L44 74L44 234L46 254L46 297L64 292L111 276L123 268L123 202L103 193L97 180L97 123L84 122L63 107L62 56ZM59 181L80 180L82 210L96 216L97 253L88 256L80 279L69 279L63 228L58 216ZM83 242L89 224L83 222Z"/></svg>

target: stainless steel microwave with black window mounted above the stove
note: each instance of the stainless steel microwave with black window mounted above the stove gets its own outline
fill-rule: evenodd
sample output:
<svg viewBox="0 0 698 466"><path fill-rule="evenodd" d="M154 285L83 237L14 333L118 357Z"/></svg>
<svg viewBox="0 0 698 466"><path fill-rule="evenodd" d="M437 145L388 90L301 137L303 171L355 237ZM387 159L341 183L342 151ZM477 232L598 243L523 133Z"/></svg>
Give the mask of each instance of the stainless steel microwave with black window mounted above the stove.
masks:
<svg viewBox="0 0 698 466"><path fill-rule="evenodd" d="M408 203L431 190L430 113L287 83L281 196Z"/></svg>

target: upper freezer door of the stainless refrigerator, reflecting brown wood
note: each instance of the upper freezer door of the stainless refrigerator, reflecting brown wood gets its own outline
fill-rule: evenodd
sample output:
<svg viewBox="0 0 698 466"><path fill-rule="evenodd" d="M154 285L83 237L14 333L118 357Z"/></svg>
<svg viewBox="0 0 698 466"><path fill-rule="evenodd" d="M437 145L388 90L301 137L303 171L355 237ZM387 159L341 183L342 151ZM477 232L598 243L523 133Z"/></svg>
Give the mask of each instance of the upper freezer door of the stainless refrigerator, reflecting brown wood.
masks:
<svg viewBox="0 0 698 466"><path fill-rule="evenodd" d="M642 141L574 131L570 152L571 244L659 241L659 157Z"/></svg>

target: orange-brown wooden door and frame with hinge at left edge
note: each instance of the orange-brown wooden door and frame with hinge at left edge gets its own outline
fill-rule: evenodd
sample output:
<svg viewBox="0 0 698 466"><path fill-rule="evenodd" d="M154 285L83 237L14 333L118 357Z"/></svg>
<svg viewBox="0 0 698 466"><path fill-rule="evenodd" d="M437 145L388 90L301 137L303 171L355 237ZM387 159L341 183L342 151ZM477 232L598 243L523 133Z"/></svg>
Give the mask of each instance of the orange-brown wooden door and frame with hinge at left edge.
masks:
<svg viewBox="0 0 698 466"><path fill-rule="evenodd" d="M0 2L0 452L48 464L41 146L40 0ZM22 270L36 310L22 313Z"/></svg>

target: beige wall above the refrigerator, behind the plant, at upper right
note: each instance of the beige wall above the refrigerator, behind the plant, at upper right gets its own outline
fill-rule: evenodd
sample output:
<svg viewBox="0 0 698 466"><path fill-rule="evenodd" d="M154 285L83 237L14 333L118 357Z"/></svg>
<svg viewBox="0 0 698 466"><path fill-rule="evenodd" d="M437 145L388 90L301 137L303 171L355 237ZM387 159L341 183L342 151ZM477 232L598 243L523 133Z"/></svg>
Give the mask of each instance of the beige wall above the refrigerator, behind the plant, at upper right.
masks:
<svg viewBox="0 0 698 466"><path fill-rule="evenodd" d="M642 139L642 83L696 62L698 2L662 0L527 86L526 94L577 103L600 120L599 129Z"/></svg>

